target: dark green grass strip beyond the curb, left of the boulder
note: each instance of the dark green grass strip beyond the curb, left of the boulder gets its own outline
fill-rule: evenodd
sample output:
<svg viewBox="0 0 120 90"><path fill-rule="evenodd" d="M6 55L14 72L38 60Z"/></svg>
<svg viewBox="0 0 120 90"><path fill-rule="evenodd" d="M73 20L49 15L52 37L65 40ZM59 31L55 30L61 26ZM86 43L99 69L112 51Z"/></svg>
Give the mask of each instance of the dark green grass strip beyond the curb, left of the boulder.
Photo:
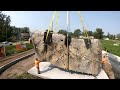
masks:
<svg viewBox="0 0 120 90"><path fill-rule="evenodd" d="M33 49L33 44L27 43L26 47L27 47L27 50ZM6 56L11 56L13 54L17 54L17 53L26 51L26 50L17 51L15 45L6 46L5 49L6 49Z"/></svg>

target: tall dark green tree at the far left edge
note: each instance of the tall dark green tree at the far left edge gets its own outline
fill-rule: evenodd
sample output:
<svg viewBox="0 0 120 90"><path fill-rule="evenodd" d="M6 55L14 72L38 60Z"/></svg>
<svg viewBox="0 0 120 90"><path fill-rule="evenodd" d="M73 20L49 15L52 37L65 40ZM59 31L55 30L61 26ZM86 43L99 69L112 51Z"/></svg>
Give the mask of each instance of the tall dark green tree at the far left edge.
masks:
<svg viewBox="0 0 120 90"><path fill-rule="evenodd" d="M0 41L5 41L11 37L12 31L10 30L10 16L0 12Z"/></svg>

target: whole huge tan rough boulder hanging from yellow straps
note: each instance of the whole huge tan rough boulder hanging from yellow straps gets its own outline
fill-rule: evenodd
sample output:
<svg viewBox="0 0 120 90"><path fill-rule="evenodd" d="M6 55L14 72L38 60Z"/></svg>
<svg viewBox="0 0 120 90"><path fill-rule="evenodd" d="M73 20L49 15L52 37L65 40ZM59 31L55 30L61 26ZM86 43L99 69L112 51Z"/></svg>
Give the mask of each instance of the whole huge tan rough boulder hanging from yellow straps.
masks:
<svg viewBox="0 0 120 90"><path fill-rule="evenodd" d="M33 34L39 57L63 69L97 75L101 70L102 46L99 40L91 39L91 47L87 48L84 39L71 39L69 49L65 46L65 36L53 34L51 45L44 52L44 33ZM68 51L67 51L68 50ZM69 52L69 55L68 53Z"/></svg>

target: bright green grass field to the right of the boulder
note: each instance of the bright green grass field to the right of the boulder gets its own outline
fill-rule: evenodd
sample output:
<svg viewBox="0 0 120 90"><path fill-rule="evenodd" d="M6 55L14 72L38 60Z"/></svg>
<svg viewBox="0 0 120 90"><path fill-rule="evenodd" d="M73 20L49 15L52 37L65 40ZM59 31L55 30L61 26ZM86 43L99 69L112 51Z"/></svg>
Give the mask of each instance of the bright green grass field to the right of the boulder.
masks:
<svg viewBox="0 0 120 90"><path fill-rule="evenodd" d="M103 50L107 48L110 53L120 56L120 44L119 46L113 45L114 43L117 43L119 41L115 41L115 40L100 40L100 41L102 43Z"/></svg>

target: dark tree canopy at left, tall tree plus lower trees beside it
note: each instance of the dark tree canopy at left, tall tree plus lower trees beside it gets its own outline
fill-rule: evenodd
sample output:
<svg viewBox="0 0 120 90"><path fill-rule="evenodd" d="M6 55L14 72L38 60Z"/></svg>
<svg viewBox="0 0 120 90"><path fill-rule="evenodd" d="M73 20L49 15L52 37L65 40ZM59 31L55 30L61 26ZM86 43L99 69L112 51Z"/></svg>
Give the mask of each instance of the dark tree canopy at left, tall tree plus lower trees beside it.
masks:
<svg viewBox="0 0 120 90"><path fill-rule="evenodd" d="M13 39L20 40L21 33L29 33L28 27L10 26L10 22L10 16L0 12L0 42L12 41Z"/></svg>

